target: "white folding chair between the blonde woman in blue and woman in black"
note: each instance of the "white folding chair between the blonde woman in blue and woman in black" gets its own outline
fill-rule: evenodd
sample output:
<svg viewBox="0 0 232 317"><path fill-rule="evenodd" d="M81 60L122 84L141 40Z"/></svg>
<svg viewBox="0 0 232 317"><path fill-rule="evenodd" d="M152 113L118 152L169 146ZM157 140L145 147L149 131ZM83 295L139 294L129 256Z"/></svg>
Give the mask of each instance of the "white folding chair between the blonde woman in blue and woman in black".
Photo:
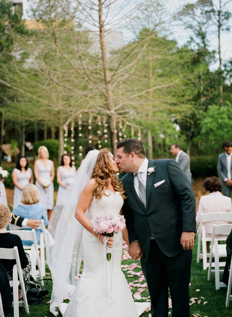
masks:
<svg viewBox="0 0 232 317"><path fill-rule="evenodd" d="M42 269L41 269L41 262L40 262L40 256L39 256L39 250L38 250L38 244L37 239L35 235L35 230L12 230L8 231L9 233L15 234L21 238L21 240L33 240L34 243L31 246L24 245L23 248L27 250L30 259L31 259L31 275L32 277L37 280L37 277L39 280L42 280ZM29 250L28 250L29 249ZM37 266L39 269L39 272L36 271L36 260L37 260ZM43 281L41 281L41 285L43 286Z"/></svg>

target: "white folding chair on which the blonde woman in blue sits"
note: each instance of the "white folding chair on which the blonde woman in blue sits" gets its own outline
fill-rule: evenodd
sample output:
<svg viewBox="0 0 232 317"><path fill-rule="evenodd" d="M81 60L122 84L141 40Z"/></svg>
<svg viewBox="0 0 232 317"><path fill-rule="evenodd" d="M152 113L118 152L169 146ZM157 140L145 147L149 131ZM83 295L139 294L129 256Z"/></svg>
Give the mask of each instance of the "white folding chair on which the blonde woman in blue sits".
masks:
<svg viewBox="0 0 232 317"><path fill-rule="evenodd" d="M10 230L31 229L31 227L29 227L29 226L19 227L19 226L16 226L15 224L11 224L11 223L9 224L9 228L10 228ZM45 276L45 265L47 264L47 262L45 261L45 248L47 250L47 236L46 236L46 228L45 228L45 224L44 224L43 219L41 219L41 223L40 223L39 227L37 227L36 229L43 230L43 232L41 232L41 234L40 234L40 244L38 244L38 249L40 249L42 275ZM30 246L26 246L26 247L27 247L27 249L30 248ZM36 264L37 264L37 261L36 261Z"/></svg>

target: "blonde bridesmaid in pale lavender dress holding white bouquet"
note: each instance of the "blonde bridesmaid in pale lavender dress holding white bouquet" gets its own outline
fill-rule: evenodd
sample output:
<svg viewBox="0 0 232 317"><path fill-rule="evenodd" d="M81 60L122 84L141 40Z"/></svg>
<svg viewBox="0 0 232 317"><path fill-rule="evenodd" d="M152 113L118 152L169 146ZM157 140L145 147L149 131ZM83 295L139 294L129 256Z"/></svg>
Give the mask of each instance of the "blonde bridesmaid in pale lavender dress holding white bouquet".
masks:
<svg viewBox="0 0 232 317"><path fill-rule="evenodd" d="M49 153L46 146L40 146L38 149L39 159L34 162L34 176L36 178L35 186L40 193L40 204L47 209L48 220L51 217L54 208L54 186L53 179L55 177L54 163L49 158ZM41 185L43 179L49 179L51 184L45 188Z"/></svg>

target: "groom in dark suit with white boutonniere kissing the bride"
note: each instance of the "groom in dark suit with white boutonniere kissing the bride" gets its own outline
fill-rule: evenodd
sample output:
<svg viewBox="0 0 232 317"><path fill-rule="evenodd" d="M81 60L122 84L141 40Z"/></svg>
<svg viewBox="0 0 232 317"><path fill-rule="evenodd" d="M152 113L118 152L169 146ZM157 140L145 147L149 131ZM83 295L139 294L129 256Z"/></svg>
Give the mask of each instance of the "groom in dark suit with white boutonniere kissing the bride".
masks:
<svg viewBox="0 0 232 317"><path fill-rule="evenodd" d="M196 232L196 201L191 184L173 159L147 159L142 143L125 139L116 146L127 199L122 207L129 254L142 251L141 267L151 297L151 316L189 317L189 282Z"/></svg>

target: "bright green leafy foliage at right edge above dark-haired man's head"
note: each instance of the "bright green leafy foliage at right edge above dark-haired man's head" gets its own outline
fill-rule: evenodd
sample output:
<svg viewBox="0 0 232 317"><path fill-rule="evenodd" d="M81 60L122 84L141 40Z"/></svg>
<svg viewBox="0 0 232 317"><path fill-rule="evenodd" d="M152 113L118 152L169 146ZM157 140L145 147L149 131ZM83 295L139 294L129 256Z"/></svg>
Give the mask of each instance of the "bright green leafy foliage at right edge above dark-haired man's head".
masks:
<svg viewBox="0 0 232 317"><path fill-rule="evenodd" d="M222 143L232 140L232 107L229 102L224 106L210 106L201 121L199 135L201 148L208 154L219 154Z"/></svg>

